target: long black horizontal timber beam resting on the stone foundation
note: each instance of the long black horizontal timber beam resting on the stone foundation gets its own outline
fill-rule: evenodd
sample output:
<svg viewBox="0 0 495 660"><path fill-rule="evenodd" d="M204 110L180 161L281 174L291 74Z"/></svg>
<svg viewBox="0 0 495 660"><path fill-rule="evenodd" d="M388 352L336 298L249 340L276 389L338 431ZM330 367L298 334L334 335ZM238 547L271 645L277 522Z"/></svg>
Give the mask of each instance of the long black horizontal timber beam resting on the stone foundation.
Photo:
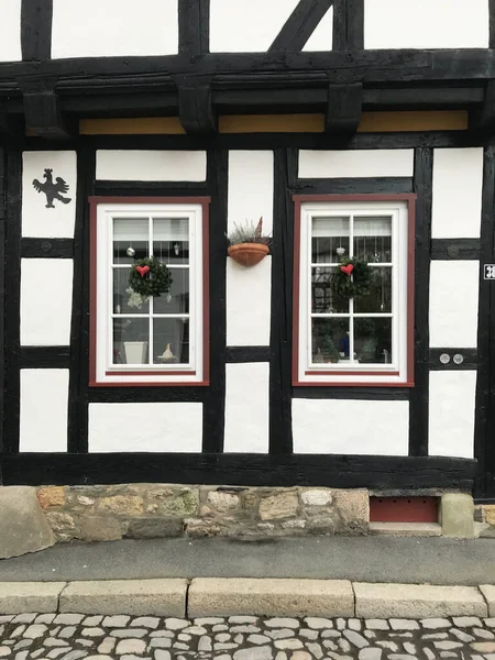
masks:
<svg viewBox="0 0 495 660"><path fill-rule="evenodd" d="M0 455L0 468L6 486L166 483L180 474L182 482L189 484L470 492L476 461L339 454L22 453Z"/></svg>

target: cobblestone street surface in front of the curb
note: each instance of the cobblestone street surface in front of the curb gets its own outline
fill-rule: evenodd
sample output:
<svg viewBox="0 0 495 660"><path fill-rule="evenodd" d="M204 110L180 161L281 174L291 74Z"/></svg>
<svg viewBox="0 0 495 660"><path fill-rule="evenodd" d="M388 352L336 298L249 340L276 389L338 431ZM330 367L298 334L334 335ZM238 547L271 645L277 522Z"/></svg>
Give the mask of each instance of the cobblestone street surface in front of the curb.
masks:
<svg viewBox="0 0 495 660"><path fill-rule="evenodd" d="M7 660L495 660L495 618L326 619L21 614L0 617Z"/></svg>

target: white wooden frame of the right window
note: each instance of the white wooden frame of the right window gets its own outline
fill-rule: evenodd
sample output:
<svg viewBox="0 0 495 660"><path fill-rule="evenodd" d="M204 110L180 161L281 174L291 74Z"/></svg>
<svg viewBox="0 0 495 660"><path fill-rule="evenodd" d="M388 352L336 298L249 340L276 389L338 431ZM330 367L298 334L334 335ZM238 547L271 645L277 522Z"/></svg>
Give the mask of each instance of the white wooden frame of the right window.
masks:
<svg viewBox="0 0 495 660"><path fill-rule="evenodd" d="M392 218L392 363L342 364L314 363L311 337L311 227L316 217L388 216ZM352 223L351 223L352 226ZM350 231L350 244L353 237ZM299 246L299 305L297 315L298 341L295 353L295 385L388 385L411 386L409 351L413 346L408 315L409 308L409 204L407 200L381 201L300 201ZM332 267L332 264L318 264ZM380 264L383 266L383 264ZM336 267L336 266L333 266ZM351 301L350 312L353 314ZM317 315L321 318L342 318L345 314ZM362 317L389 317L387 314L358 315ZM356 318L356 316L354 316ZM352 349L351 349L352 350ZM321 373L319 373L321 372ZM363 373L365 372L365 373ZM367 372L367 373L366 373Z"/></svg>

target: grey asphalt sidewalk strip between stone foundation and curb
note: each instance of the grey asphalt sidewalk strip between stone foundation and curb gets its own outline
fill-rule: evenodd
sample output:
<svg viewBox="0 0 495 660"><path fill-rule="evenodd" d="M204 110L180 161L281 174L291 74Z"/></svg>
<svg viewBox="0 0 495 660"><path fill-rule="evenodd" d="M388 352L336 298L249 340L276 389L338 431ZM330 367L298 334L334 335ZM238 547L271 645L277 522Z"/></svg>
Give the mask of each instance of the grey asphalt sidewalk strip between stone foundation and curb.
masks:
<svg viewBox="0 0 495 660"><path fill-rule="evenodd" d="M201 576L495 584L495 539L125 540L58 544L0 561L0 582Z"/></svg>

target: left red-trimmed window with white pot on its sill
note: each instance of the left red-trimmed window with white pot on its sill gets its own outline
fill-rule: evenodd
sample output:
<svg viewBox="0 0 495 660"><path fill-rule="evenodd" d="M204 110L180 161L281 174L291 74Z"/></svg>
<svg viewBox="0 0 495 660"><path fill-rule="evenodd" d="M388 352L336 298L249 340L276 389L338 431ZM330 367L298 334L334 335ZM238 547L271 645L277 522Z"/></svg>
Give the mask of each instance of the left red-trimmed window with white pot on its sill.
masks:
<svg viewBox="0 0 495 660"><path fill-rule="evenodd" d="M91 200L91 384L205 384L208 200ZM136 260L169 270L169 290L129 283Z"/></svg>

